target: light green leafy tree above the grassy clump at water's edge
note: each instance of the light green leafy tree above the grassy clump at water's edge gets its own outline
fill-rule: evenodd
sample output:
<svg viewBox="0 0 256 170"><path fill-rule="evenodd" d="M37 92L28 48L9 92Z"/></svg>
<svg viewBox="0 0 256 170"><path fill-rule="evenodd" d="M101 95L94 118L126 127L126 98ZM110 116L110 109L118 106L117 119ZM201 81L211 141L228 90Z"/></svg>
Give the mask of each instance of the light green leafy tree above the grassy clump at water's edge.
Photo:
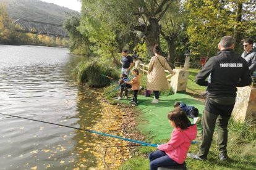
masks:
<svg viewBox="0 0 256 170"><path fill-rule="evenodd" d="M98 12L98 13L95 13ZM83 17L80 21L79 31L83 36L88 36L92 43L90 49L106 59L111 57L114 63L119 63L115 54L118 49L114 26L111 25L111 17L95 4L87 4L83 7Z"/></svg>

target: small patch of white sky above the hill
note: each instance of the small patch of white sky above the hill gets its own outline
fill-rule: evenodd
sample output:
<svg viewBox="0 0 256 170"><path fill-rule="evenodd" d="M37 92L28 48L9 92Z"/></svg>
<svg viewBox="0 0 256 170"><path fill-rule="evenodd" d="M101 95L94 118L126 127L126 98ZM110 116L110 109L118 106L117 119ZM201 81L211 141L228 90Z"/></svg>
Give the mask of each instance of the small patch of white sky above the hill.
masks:
<svg viewBox="0 0 256 170"><path fill-rule="evenodd" d="M58 6L67 7L69 9L76 10L80 12L81 2L77 0L40 0L48 3L53 3Z"/></svg>

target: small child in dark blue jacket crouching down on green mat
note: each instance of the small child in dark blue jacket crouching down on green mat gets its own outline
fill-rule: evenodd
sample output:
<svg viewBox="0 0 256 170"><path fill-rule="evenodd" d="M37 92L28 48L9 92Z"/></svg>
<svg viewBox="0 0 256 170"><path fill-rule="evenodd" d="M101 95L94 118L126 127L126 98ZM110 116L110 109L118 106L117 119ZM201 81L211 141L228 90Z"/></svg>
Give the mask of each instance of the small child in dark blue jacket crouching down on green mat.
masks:
<svg viewBox="0 0 256 170"><path fill-rule="evenodd" d="M173 105L174 108L181 108L189 118L193 119L194 124L197 124L200 121L200 117L198 116L198 109L194 106L186 105L186 103L175 102Z"/></svg>

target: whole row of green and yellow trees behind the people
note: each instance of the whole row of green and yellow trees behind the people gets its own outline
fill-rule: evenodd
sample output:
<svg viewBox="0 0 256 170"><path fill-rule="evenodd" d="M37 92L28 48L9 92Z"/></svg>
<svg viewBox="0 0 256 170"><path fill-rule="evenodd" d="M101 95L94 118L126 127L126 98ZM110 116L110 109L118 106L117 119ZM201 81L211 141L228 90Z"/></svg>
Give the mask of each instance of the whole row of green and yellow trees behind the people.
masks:
<svg viewBox="0 0 256 170"><path fill-rule="evenodd" d="M65 23L70 51L95 54L118 62L122 49L150 59L160 44L168 62L184 61L190 49L192 60L211 57L225 35L256 40L256 1L241 0L82 0L81 15Z"/></svg>

